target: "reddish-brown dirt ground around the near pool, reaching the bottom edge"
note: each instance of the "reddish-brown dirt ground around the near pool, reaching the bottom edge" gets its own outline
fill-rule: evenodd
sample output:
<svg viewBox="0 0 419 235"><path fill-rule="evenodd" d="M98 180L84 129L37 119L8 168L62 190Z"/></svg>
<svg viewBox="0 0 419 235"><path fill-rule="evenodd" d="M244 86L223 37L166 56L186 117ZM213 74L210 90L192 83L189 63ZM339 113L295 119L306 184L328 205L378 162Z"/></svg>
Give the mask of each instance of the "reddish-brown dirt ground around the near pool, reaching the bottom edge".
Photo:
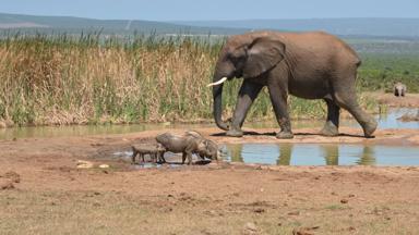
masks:
<svg viewBox="0 0 419 235"><path fill-rule="evenodd" d="M419 145L419 129L366 139L360 128L343 127L338 137L307 128L292 140L274 129L247 129L243 138L197 131L219 144ZM112 154L163 132L0 140L1 234L419 234L417 166L136 169ZM77 169L79 160L94 166Z"/></svg>

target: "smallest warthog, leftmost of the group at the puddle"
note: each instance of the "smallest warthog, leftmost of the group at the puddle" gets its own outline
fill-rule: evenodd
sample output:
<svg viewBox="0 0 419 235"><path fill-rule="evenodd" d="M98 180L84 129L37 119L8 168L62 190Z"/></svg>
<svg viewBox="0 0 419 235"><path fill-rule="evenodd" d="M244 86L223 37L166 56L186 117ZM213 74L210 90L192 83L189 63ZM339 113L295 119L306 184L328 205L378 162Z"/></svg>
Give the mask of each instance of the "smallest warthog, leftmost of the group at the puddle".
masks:
<svg viewBox="0 0 419 235"><path fill-rule="evenodd" d="M132 148L132 163L135 164L135 157L140 154L140 158L144 161L144 156L149 154L153 162L166 162L164 153L166 151L166 148L163 147L161 144L157 145L134 145L131 146Z"/></svg>

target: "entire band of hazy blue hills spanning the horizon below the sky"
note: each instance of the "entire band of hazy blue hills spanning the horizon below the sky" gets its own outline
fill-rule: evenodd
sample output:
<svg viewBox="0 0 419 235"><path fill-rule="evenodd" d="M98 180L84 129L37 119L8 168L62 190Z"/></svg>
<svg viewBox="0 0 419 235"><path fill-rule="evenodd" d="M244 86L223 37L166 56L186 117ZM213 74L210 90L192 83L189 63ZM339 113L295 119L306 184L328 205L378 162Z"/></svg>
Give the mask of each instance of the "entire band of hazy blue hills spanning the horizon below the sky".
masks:
<svg viewBox="0 0 419 235"><path fill-rule="evenodd" d="M67 33L100 32L101 34L191 34L232 35L255 29L290 32L325 30L344 37L416 38L419 18L310 18L310 20L242 20L242 21L127 21L95 20L72 16L35 16L0 13L1 32Z"/></svg>

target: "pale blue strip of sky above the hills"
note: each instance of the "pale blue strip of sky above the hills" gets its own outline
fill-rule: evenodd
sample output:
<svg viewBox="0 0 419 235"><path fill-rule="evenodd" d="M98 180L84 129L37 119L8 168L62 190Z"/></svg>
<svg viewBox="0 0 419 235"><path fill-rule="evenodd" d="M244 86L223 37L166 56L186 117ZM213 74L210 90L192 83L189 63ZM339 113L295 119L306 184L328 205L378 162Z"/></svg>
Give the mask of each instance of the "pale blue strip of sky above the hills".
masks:
<svg viewBox="0 0 419 235"><path fill-rule="evenodd" d="M419 17L419 0L1 0L0 12L121 20Z"/></svg>

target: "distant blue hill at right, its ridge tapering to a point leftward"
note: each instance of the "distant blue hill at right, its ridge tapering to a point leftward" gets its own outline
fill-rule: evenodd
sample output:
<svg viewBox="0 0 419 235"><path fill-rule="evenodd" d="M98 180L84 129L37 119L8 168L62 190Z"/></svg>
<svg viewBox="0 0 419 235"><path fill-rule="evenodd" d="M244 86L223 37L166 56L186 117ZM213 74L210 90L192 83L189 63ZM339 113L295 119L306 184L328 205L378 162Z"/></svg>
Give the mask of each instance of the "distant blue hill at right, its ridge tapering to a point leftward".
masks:
<svg viewBox="0 0 419 235"><path fill-rule="evenodd" d="M343 36L419 37L419 18L242 20L181 21L172 23L201 27L265 28L297 32L325 30Z"/></svg>

